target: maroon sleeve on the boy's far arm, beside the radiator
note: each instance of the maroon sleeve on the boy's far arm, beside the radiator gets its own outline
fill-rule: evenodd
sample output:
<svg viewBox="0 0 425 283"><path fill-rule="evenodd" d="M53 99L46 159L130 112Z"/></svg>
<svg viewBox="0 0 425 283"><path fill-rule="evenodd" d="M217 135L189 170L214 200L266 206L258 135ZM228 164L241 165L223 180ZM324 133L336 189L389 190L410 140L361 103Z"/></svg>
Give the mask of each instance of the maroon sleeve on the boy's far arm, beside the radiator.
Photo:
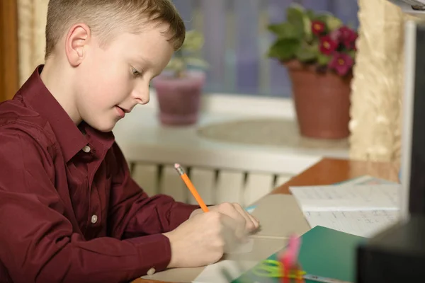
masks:
<svg viewBox="0 0 425 283"><path fill-rule="evenodd" d="M148 197L131 178L128 163L116 143L113 144L113 156L116 167L108 223L114 237L132 238L174 230L199 208L176 202L168 195Z"/></svg>

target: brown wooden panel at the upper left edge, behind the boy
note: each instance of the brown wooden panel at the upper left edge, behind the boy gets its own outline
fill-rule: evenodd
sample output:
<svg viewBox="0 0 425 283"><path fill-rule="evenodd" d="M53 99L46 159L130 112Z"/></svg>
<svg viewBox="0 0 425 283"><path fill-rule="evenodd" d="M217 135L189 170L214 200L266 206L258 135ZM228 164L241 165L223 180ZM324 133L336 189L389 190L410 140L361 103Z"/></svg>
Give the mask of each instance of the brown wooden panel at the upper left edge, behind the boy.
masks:
<svg viewBox="0 0 425 283"><path fill-rule="evenodd" d="M16 0L0 1L0 101L18 90L18 13Z"/></svg>

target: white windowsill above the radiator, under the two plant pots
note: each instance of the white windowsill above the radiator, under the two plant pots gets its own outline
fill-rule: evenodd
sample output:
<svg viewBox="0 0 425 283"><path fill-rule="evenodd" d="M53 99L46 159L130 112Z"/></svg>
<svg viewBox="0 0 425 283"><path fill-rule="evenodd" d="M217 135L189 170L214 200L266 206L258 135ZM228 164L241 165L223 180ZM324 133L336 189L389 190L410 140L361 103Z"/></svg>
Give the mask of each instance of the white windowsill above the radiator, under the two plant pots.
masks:
<svg viewBox="0 0 425 283"><path fill-rule="evenodd" d="M347 158L345 149L300 149L215 141L198 136L197 129L211 123L250 117L295 119L292 100L214 94L203 96L197 125L163 127L157 118L154 91L147 105L138 106L114 129L115 139L130 162L182 163L295 175L324 156Z"/></svg>

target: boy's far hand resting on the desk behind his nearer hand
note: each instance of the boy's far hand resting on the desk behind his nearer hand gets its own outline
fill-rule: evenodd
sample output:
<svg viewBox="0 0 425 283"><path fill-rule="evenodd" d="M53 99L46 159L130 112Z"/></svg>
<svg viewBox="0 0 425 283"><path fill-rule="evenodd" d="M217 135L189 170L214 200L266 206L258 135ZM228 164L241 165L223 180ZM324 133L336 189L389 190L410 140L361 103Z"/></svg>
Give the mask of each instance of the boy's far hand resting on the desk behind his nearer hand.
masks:
<svg viewBox="0 0 425 283"><path fill-rule="evenodd" d="M208 207L208 209L210 209L210 212L220 212L221 214L232 217L236 221L238 238L244 238L250 232L259 228L259 220L246 212L240 204L223 202L222 204ZM204 213L202 209L196 209L189 218L201 213Z"/></svg>

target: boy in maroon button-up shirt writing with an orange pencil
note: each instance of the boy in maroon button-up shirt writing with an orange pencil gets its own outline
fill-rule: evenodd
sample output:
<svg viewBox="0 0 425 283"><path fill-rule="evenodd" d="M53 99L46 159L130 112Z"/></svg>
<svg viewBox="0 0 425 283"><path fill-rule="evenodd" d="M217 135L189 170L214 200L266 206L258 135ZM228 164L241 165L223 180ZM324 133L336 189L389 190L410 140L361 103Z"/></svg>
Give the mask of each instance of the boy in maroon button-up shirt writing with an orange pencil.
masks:
<svg viewBox="0 0 425 283"><path fill-rule="evenodd" d="M170 0L50 0L46 62L0 104L1 282L125 282L219 260L259 226L147 197L111 130L184 40Z"/></svg>

